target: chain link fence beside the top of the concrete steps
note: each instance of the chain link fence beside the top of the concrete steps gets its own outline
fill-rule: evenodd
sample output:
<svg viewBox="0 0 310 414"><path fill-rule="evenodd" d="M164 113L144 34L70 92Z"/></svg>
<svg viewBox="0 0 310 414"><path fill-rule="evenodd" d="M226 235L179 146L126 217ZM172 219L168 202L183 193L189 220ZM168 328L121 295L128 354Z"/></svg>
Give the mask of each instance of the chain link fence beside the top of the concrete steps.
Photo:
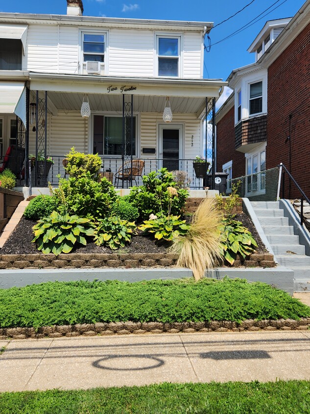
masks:
<svg viewBox="0 0 310 414"><path fill-rule="evenodd" d="M279 168L261 171L260 173L250 174L238 178L227 180L227 190L229 194L232 185L238 186L240 197L246 197L250 201L276 201L279 182Z"/></svg>

